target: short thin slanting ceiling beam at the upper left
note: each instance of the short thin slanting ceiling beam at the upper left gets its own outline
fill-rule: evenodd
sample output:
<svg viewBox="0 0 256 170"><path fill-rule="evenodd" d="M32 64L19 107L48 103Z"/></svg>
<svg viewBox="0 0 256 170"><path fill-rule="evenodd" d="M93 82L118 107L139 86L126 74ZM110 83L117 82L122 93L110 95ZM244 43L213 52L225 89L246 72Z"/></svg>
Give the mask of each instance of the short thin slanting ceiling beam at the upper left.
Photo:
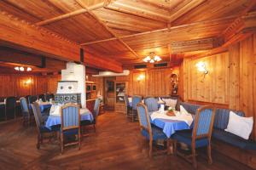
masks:
<svg viewBox="0 0 256 170"><path fill-rule="evenodd" d="M80 8L78 10L75 10L75 11L67 13L67 14L62 14L60 16L56 16L56 17L48 19L48 20L43 20L41 22L36 23L36 25L37 26L49 25L50 23L53 23L53 22L58 21L58 20L64 20L64 19L71 18L71 17L73 17L75 15L78 15L78 14L84 14L84 13L88 12L88 9L89 10L95 10L97 8L102 8L103 6L104 6L104 3L97 3L95 5L92 5L92 6L88 7L87 9Z"/></svg>

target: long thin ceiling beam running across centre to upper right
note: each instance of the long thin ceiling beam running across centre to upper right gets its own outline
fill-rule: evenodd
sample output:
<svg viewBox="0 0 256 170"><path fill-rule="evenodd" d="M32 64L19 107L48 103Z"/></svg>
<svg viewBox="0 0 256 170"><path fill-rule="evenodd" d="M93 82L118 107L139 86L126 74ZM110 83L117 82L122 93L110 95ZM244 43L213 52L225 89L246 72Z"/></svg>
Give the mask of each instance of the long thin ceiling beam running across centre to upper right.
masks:
<svg viewBox="0 0 256 170"><path fill-rule="evenodd" d="M201 24L219 22L219 21L222 21L222 20L229 20L229 19L233 19L233 18L236 18L236 16L232 15L232 16L219 18L219 19L214 19L214 20L203 20L203 21L198 21L198 22L185 24L185 25L180 25L180 26L172 26L172 25L168 24L166 26L166 28L161 28L161 29L154 30L154 31L144 31L144 32L136 33L136 34L127 35L127 36L120 36L119 38L123 39L123 38L127 38L127 37L138 37L138 36L143 36L143 35L150 35L150 34L157 33L157 32L172 31L172 30L176 30L176 29L180 29L180 28L189 27L189 26L197 26L197 25L201 25ZM98 41L94 41L94 42L84 42L84 43L80 43L80 45L84 46L84 45L90 45L90 44L99 43L99 42L113 41L113 40L116 40L116 39L118 39L118 38L112 37L112 38L98 40Z"/></svg>

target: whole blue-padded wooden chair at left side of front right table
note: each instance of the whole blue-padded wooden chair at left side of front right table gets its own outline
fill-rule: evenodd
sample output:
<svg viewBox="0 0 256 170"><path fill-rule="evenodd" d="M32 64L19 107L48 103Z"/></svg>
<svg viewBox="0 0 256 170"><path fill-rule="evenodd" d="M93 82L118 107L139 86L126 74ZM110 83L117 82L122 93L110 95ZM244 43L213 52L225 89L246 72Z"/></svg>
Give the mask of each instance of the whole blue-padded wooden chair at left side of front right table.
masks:
<svg viewBox="0 0 256 170"><path fill-rule="evenodd" d="M149 157L152 157L153 141L162 139L167 142L167 150L169 150L170 140L163 133L163 129L159 127L151 127L147 106L143 103L137 105L137 113L141 128L141 133L149 140ZM165 150L166 151L166 150Z"/></svg>

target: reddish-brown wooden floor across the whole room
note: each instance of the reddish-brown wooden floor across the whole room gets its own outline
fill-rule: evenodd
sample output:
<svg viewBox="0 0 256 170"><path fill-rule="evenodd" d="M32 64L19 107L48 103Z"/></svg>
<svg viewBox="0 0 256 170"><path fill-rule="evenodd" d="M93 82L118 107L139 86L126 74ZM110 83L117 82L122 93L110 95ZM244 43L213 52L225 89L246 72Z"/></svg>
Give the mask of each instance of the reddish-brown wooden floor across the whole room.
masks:
<svg viewBox="0 0 256 170"><path fill-rule="evenodd" d="M140 135L138 123L125 115L108 112L99 116L97 131L85 137L81 150L71 146L61 156L57 142L45 142L36 149L36 127L20 122L0 124L0 169L192 169L177 156L148 158L148 142ZM213 164L198 156L198 169L250 169L212 151Z"/></svg>

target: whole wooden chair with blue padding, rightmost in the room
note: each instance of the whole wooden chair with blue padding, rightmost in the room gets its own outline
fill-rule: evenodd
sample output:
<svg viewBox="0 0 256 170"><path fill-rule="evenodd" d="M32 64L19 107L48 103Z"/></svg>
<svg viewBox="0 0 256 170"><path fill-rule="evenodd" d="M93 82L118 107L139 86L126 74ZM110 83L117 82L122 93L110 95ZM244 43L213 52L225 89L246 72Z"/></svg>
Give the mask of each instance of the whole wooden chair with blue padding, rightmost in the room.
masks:
<svg viewBox="0 0 256 170"><path fill-rule="evenodd" d="M174 139L174 153L183 156L187 161L192 162L193 167L197 168L195 149L207 146L208 163L212 164L211 137L214 122L215 108L202 106L196 111L193 130L177 131L172 135ZM192 154L185 156L177 152L177 141L188 144ZM192 161L189 159L192 157Z"/></svg>

